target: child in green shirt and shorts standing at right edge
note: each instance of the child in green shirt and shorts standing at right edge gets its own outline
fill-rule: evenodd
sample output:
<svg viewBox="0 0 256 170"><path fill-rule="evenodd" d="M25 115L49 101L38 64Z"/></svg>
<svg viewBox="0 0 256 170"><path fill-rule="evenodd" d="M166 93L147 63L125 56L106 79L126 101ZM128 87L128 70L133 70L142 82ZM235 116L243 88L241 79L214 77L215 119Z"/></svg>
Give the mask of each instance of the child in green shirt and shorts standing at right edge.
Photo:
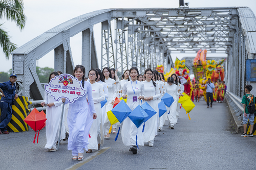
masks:
<svg viewBox="0 0 256 170"><path fill-rule="evenodd" d="M241 102L242 104L244 104L244 114L243 114L244 133L241 136L253 136L252 135L252 130L253 130L253 124L254 124L253 122L254 122L255 107L254 107L254 112L253 113L250 113L248 111L248 106L251 103L253 105L255 103L255 98L250 93L251 90L252 90L252 86L251 85L246 85L245 88L244 88L244 91L245 91L246 94L243 96L243 99L242 99L242 102ZM249 110L251 110L251 109L249 108ZM251 128L250 128L250 133L247 135L246 134L246 127L247 127L248 119L249 119L249 123L251 125Z"/></svg>

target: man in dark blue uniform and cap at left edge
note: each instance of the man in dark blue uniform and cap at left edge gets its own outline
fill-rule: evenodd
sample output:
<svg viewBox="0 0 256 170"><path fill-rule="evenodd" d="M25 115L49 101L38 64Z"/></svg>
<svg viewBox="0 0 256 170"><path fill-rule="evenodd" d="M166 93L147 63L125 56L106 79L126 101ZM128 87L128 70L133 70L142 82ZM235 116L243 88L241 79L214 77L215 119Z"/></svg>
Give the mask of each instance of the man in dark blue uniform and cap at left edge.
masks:
<svg viewBox="0 0 256 170"><path fill-rule="evenodd" d="M17 76L15 74L11 74L9 79L10 80L8 82L0 83L0 92L3 93L0 100L0 134L9 134L6 126L9 124L12 118L12 105L14 105L14 100L18 98L18 95L15 94L15 82L17 80Z"/></svg>

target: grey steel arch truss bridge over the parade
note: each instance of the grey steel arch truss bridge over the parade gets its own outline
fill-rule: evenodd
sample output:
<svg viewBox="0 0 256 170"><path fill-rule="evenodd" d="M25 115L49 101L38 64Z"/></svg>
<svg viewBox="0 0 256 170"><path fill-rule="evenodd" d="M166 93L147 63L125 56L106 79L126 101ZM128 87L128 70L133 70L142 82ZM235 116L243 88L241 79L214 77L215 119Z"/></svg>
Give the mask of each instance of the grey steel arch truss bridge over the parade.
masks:
<svg viewBox="0 0 256 170"><path fill-rule="evenodd" d="M43 99L36 60L52 50L54 70L72 74L70 37L80 32L81 64L87 72L99 67L93 27L100 22L101 68L123 71L137 66L143 72L145 68L155 69L157 64L163 64L166 71L173 66L172 53L197 53L205 48L208 53L227 56L228 90L239 98L243 95L246 59L253 59L256 54L256 20L247 7L104 9L75 17L12 52L18 95Z"/></svg>

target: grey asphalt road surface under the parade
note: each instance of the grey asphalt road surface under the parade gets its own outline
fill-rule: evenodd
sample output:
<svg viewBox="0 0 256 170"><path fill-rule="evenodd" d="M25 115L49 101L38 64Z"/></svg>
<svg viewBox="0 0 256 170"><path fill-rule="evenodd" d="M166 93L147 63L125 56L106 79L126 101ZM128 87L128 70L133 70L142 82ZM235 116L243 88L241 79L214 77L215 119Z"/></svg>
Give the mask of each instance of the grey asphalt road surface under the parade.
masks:
<svg viewBox="0 0 256 170"><path fill-rule="evenodd" d="M112 134L103 146L111 148L78 169L254 169L256 136L234 132L226 103L206 108L201 100L195 105L191 120L181 109L175 129L164 126L154 147L145 143L134 155L122 144L120 134L117 141ZM0 135L0 169L66 169L80 163L71 160L67 141L61 142L59 151L45 152L45 131L40 132L38 144L33 143L34 135L32 131ZM85 158L91 155L84 153Z"/></svg>

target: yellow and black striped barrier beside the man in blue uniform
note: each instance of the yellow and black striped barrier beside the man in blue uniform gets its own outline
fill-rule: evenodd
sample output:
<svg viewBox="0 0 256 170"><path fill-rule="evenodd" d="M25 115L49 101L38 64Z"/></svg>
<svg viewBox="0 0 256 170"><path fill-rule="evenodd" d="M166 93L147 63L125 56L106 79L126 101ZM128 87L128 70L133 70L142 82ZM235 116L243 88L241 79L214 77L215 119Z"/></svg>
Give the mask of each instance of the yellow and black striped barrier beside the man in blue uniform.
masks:
<svg viewBox="0 0 256 170"><path fill-rule="evenodd" d="M12 105L12 119L7 125L9 132L23 132L28 130L28 125L23 121L27 117L28 97L18 96ZM1 114L1 112L0 112Z"/></svg>

